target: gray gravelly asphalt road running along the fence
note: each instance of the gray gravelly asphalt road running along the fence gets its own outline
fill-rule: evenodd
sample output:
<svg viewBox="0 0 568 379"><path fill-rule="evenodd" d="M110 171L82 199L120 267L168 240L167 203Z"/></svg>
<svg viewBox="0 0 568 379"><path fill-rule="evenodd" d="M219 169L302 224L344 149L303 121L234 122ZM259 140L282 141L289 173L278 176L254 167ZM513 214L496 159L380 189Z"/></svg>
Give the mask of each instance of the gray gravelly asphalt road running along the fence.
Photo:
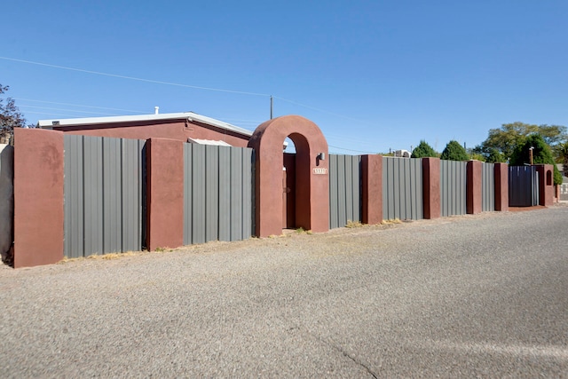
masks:
<svg viewBox="0 0 568 379"><path fill-rule="evenodd" d="M568 377L568 207L0 268L2 377Z"/></svg>

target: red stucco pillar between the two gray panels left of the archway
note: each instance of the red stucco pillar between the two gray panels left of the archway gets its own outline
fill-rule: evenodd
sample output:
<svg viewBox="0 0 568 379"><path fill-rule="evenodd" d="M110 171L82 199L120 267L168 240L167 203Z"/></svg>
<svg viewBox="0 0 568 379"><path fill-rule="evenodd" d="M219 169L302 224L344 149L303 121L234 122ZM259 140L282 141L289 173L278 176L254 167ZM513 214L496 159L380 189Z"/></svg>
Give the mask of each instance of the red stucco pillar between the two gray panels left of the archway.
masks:
<svg viewBox="0 0 568 379"><path fill-rule="evenodd" d="M184 244L184 144L173 139L146 141L146 247Z"/></svg>

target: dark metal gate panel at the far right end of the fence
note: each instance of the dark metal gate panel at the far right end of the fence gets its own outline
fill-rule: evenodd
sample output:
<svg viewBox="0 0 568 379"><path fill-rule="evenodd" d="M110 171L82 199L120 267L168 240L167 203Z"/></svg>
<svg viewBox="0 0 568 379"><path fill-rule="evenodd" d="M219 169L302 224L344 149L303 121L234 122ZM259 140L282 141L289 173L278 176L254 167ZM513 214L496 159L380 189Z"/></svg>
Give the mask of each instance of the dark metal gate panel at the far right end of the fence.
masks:
<svg viewBox="0 0 568 379"><path fill-rule="evenodd" d="M509 166L509 207L539 205L539 176L534 166Z"/></svg>

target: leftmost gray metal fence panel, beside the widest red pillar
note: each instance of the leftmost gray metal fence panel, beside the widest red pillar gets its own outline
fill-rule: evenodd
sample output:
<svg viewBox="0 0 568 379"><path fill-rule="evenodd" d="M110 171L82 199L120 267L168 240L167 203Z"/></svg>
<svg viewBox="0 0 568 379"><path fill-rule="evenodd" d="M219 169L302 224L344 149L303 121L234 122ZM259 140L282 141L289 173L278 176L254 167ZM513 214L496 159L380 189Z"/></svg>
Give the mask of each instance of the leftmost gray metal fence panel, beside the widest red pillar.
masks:
<svg viewBox="0 0 568 379"><path fill-rule="evenodd" d="M141 250L146 141L65 135L67 257Z"/></svg>

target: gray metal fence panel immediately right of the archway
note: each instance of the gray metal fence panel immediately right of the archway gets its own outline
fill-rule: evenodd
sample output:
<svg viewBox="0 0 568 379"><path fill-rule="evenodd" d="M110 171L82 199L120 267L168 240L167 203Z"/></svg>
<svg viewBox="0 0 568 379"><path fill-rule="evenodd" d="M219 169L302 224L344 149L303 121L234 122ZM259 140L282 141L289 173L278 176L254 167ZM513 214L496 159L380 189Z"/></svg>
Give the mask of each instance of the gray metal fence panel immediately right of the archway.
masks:
<svg viewBox="0 0 568 379"><path fill-rule="evenodd" d="M361 157L329 154L329 228L361 221Z"/></svg>

